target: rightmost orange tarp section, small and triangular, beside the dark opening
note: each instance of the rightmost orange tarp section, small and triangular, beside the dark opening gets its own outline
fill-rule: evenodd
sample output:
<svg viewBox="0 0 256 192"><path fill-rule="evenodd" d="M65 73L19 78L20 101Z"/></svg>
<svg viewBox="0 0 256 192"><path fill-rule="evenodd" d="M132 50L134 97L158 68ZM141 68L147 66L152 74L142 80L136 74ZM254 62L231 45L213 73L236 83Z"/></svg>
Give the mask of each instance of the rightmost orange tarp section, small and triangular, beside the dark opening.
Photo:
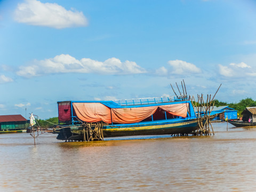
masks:
<svg viewBox="0 0 256 192"><path fill-rule="evenodd" d="M188 113L188 103L159 106L159 108L165 110L170 114L180 116L180 117L187 117L187 113Z"/></svg>

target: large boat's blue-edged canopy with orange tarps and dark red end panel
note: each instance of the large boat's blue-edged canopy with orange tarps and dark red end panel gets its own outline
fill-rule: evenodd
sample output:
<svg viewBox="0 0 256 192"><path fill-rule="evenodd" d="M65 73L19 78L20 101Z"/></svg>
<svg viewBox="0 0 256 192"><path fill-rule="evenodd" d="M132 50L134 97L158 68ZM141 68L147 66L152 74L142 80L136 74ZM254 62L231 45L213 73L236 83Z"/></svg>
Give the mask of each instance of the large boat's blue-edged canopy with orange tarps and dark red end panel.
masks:
<svg viewBox="0 0 256 192"><path fill-rule="evenodd" d="M153 115L156 110L187 117L190 101L150 103L147 105L121 106L114 101L62 101L58 102L59 121L77 117L84 122L137 123Z"/></svg>

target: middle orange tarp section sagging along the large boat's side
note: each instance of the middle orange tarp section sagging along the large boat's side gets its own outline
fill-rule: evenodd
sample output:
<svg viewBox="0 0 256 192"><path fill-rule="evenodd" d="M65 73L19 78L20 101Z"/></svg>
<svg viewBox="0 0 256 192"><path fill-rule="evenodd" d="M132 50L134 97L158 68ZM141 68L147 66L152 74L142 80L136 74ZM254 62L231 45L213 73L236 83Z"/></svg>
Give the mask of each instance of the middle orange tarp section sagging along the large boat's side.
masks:
<svg viewBox="0 0 256 192"><path fill-rule="evenodd" d="M112 121L114 123L137 123L153 115L156 109L157 106L111 109Z"/></svg>

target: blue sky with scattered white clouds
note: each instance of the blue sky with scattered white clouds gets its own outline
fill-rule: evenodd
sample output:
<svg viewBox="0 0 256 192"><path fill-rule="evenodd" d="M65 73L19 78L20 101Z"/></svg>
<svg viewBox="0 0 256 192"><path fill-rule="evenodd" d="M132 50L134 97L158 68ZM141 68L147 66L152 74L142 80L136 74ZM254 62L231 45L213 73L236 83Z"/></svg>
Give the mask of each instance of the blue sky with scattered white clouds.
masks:
<svg viewBox="0 0 256 192"><path fill-rule="evenodd" d="M187 93L256 100L256 1L0 0L0 115Z"/></svg>

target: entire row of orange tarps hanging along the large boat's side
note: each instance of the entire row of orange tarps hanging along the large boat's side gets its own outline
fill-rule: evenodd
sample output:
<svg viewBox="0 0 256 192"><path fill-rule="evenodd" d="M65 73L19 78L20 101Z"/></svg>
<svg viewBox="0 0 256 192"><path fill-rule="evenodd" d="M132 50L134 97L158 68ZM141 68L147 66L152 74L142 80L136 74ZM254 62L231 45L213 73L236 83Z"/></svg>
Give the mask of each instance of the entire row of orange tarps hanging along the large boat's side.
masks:
<svg viewBox="0 0 256 192"><path fill-rule="evenodd" d="M138 123L150 117L157 108L166 112L186 117L188 103L179 103L164 106L134 107L134 108L108 108L102 103L73 103L75 113L84 122L94 123L103 121L105 123ZM111 121L112 117L112 121Z"/></svg>

